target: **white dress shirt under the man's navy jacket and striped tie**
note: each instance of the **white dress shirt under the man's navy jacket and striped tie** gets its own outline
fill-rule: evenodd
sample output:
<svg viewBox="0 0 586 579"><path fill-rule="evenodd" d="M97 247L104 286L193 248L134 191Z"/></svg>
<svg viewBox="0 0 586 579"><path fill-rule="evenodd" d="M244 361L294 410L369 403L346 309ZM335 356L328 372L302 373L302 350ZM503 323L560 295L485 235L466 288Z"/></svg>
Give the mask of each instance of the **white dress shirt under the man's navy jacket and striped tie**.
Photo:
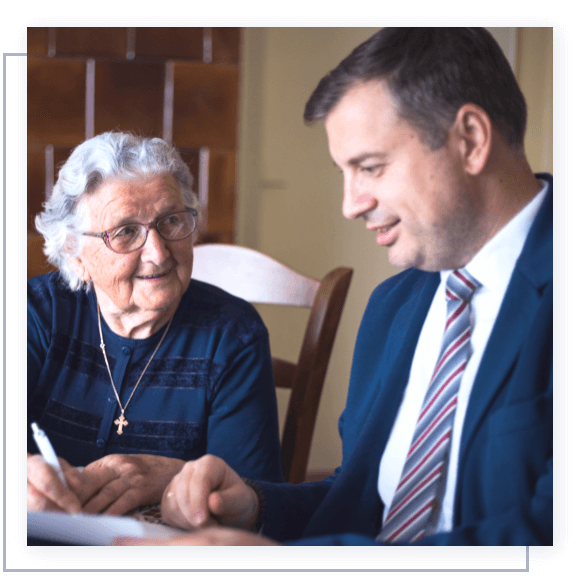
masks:
<svg viewBox="0 0 586 579"><path fill-rule="evenodd" d="M444 464L440 479L439 492L444 494L442 508L441 512L435 513L435 518L432 519L432 525L435 526L437 533L448 532L452 529L458 476L456 457L459 454L466 407L513 268L543 203L547 183L542 181L542 184L542 190L489 240L466 266L466 270L482 284L482 287L476 290L471 301L472 353L458 391L458 405L454 416L447 470ZM411 363L409 382L381 459L378 491L385 505L383 521L399 485L425 392L439 356L447 315L446 280L450 273L450 271L440 272L441 282L419 335Z"/></svg>

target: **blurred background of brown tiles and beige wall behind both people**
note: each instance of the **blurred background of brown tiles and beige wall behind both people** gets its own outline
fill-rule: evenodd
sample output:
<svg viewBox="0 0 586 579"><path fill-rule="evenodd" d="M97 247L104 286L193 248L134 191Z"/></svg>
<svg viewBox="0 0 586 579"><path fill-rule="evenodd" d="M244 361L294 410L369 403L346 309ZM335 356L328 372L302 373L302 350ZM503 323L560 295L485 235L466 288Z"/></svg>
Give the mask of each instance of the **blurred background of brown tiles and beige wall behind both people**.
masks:
<svg viewBox="0 0 586 579"><path fill-rule="evenodd" d="M310 477L338 466L354 342L368 297L397 273L361 221L341 214L342 180L323 123L306 127L317 83L378 28L29 27L27 233L59 164L110 130L162 137L194 175L201 242L237 243L312 277L338 266L354 277L334 343ZM525 148L534 172L553 173L552 28L489 28L528 104ZM31 256L29 255L29 259ZM258 306L273 354L294 360L307 317ZM283 321L285 320L285 321ZM278 392L279 410L287 392Z"/></svg>

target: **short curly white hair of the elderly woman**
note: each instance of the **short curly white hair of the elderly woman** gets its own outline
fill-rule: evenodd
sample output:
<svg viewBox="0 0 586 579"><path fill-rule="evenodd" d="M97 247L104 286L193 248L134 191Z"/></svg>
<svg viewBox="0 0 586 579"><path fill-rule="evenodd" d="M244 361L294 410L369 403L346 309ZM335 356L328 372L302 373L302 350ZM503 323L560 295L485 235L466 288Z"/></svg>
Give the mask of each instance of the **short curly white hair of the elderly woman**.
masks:
<svg viewBox="0 0 586 579"><path fill-rule="evenodd" d="M162 139L131 133L103 133L76 147L61 167L51 196L43 204L44 211L35 218L35 225L45 238L47 260L59 270L73 291L86 285L68 260L69 256L79 254L81 232L88 221L84 195L107 181L147 175L172 176L183 204L197 207L189 167L179 152Z"/></svg>

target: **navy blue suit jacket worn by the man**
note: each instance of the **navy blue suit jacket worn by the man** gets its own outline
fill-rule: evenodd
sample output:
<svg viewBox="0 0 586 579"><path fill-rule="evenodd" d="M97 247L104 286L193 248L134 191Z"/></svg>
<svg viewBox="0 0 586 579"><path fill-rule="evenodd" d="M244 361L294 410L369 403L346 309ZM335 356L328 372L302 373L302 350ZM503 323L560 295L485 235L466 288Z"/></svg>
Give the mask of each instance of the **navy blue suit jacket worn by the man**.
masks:
<svg viewBox="0 0 586 579"><path fill-rule="evenodd" d="M467 409L453 530L418 545L553 543L553 178L487 344ZM261 483L264 533L295 545L376 545L381 456L438 273L408 270L372 294L339 429L342 465L300 485ZM399 465L402 468L402 465Z"/></svg>

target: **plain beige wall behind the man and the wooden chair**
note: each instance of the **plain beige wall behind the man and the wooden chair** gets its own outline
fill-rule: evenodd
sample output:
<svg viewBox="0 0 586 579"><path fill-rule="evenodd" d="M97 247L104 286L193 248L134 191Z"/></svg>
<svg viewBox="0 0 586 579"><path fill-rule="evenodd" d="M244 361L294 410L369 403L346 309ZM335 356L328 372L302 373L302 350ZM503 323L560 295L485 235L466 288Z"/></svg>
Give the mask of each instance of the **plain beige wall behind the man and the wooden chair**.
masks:
<svg viewBox="0 0 586 579"><path fill-rule="evenodd" d="M303 123L320 78L376 28L246 28L243 41L237 243L314 277L338 266L354 278L334 345L310 456L310 470L341 459L337 421L345 404L362 313L377 284L397 273L360 222L341 215L342 181L323 126ZM526 144L534 171L553 172L552 30L496 29L529 104ZM548 69L549 67L549 69ZM293 359L306 317L259 307L275 355ZM285 316L285 322L282 321ZM280 413L286 403L279 396Z"/></svg>

